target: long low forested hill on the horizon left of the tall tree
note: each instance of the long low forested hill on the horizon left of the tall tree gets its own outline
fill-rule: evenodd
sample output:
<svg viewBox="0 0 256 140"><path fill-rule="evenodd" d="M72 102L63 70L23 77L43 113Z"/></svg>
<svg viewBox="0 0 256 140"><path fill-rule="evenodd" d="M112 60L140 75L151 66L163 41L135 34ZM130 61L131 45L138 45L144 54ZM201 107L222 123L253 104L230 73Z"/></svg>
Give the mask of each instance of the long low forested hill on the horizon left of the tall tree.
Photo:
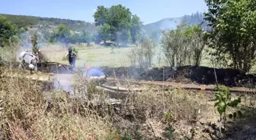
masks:
<svg viewBox="0 0 256 140"><path fill-rule="evenodd" d="M53 17L34 17L34 16L24 16L24 15L12 15L12 14L0 14L7 17L14 25L18 28L27 28L35 25L43 26L59 26L59 24L64 24L69 26L73 31L81 30L94 30L94 23L88 23L82 20L69 20L69 19L59 19Z"/></svg>

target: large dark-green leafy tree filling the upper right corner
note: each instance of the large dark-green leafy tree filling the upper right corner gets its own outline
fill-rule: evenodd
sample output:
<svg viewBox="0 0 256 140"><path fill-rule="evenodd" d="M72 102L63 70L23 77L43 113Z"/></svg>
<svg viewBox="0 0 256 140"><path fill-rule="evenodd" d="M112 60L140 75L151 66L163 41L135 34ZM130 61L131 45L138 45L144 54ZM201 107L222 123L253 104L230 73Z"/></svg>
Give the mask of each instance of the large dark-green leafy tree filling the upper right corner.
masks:
<svg viewBox="0 0 256 140"><path fill-rule="evenodd" d="M252 0L205 0L212 31L208 34L210 47L216 50L218 60L232 60L231 67L248 71L255 62L256 54L256 1Z"/></svg>

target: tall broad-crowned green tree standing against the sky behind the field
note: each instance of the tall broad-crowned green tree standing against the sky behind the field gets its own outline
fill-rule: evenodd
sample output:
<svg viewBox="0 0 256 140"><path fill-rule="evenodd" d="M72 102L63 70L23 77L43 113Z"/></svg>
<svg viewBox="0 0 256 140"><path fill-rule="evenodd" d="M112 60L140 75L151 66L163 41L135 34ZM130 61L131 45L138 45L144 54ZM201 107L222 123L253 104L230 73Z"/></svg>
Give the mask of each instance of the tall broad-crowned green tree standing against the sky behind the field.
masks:
<svg viewBox="0 0 256 140"><path fill-rule="evenodd" d="M123 45L139 40L142 22L123 5L114 5L110 8L98 6L94 20L96 26L100 26L98 36L104 40L104 44L107 39Z"/></svg>

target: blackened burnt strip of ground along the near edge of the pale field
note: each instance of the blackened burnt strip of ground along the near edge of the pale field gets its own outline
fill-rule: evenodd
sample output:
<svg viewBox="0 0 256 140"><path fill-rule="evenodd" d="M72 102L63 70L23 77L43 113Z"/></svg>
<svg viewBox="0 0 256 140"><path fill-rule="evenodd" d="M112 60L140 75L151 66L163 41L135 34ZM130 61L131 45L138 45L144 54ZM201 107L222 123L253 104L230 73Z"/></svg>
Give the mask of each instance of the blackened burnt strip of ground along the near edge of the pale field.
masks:
<svg viewBox="0 0 256 140"><path fill-rule="evenodd" d="M18 64L13 64L18 67ZM197 83L200 85L214 85L216 78L214 69L210 67L184 66L174 70L171 67L152 67L142 69L139 67L92 67L102 70L105 74L117 79L136 79L148 81L181 82L186 84ZM79 69L85 70L84 67ZM43 73L75 73L69 70L68 65L58 63L38 64L38 70ZM216 69L217 81L225 86L252 87L256 84L254 74L246 74L241 70Z"/></svg>

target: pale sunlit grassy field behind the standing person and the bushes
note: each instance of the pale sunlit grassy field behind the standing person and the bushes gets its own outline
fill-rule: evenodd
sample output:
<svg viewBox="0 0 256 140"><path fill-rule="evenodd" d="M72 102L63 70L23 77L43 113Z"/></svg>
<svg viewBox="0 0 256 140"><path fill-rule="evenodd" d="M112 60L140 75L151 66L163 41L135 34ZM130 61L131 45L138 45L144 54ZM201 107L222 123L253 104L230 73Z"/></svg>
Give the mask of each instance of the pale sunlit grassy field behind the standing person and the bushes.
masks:
<svg viewBox="0 0 256 140"><path fill-rule="evenodd" d="M131 64L128 54L133 47L114 49L104 48L97 45L91 47L87 47L86 45L73 45L73 47L78 50L78 59L76 60L76 66L78 67L127 67ZM69 64L69 62L64 59L68 51L66 48L61 47L61 45L49 45L46 48L43 48L42 51L43 54L46 54L46 57L49 58L49 61ZM213 67L213 63L210 61L210 57L206 52L203 52L201 65L205 67ZM165 61L165 56L158 46L153 58L153 67L162 66L168 66L168 63Z"/></svg>

